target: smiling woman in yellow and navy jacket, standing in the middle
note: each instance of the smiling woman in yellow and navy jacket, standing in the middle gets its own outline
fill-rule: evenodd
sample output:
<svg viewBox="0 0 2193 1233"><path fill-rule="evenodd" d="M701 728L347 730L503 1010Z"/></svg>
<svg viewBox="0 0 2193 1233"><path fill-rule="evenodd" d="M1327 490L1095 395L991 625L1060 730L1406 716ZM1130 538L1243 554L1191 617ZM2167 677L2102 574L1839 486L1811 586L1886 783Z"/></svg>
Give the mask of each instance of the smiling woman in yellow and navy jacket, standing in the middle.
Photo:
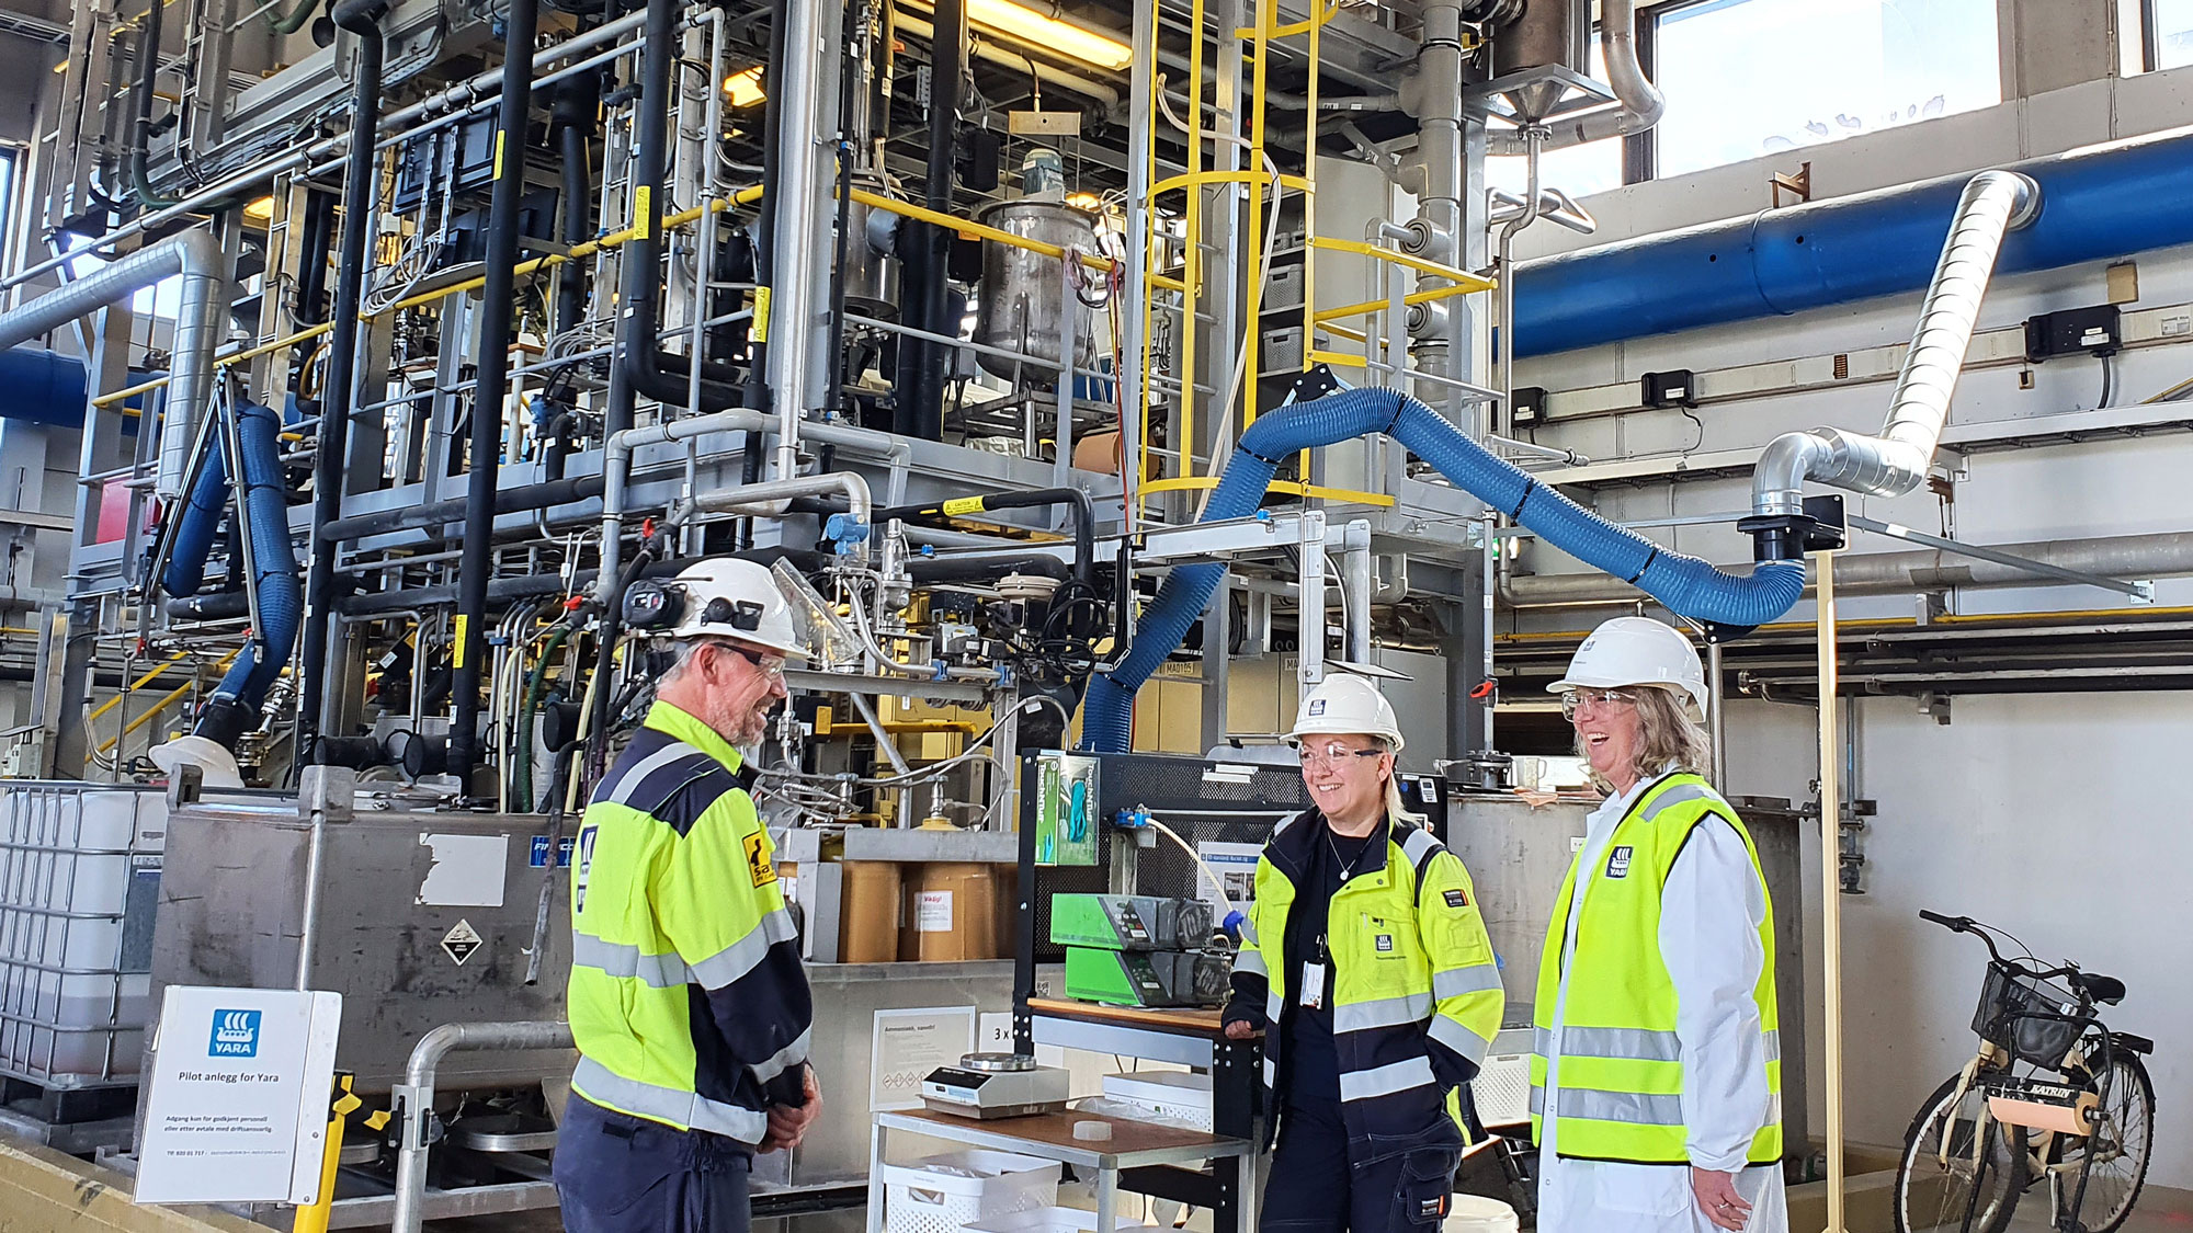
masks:
<svg viewBox="0 0 2193 1233"><path fill-rule="evenodd" d="M1401 728L1331 676L1289 739L1314 807L1257 862L1226 1036L1263 1038L1279 1152L1263 1233L1436 1233L1463 1150L1458 1088L1504 996L1461 858L1401 807Z"/></svg>

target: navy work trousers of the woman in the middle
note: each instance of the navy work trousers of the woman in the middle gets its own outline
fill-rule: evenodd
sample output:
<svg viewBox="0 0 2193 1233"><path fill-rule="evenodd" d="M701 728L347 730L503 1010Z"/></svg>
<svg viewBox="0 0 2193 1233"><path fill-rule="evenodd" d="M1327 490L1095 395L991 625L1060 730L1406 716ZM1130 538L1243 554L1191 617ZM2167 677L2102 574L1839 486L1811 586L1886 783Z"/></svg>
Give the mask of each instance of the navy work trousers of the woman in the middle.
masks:
<svg viewBox="0 0 2193 1233"><path fill-rule="evenodd" d="M1259 1204L1261 1233L1439 1233L1458 1154L1417 1147L1349 1161L1340 1104L1287 1104Z"/></svg>

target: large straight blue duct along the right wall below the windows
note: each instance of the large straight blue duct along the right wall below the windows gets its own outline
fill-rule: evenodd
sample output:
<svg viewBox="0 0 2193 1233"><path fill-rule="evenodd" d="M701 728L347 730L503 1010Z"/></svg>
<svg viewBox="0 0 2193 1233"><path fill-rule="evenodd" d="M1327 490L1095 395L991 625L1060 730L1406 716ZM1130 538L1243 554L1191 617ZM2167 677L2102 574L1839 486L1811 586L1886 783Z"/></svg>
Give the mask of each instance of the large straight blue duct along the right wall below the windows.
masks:
<svg viewBox="0 0 2193 1233"><path fill-rule="evenodd" d="M1998 274L2193 244L2193 129L2015 162L2042 213ZM1969 173L1524 261L1515 353L1842 305L1928 285Z"/></svg>

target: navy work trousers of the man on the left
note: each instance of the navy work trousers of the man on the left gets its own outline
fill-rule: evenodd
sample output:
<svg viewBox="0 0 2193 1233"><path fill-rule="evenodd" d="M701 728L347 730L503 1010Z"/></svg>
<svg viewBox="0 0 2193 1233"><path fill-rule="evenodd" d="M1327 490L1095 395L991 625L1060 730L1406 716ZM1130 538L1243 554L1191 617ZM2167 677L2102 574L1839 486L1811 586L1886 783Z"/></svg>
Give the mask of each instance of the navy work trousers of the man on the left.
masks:
<svg viewBox="0 0 2193 1233"><path fill-rule="evenodd" d="M610 1112L572 1093L555 1147L566 1233L748 1233L743 1143Z"/></svg>

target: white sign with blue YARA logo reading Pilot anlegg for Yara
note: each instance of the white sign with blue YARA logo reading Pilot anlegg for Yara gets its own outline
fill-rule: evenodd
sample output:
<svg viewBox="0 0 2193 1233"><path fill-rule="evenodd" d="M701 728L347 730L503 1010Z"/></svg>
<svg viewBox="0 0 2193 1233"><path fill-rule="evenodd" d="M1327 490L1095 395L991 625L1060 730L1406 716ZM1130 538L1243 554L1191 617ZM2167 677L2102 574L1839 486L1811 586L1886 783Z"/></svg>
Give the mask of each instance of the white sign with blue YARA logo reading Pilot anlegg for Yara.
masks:
<svg viewBox="0 0 2193 1233"><path fill-rule="evenodd" d="M342 994L171 985L136 1200L314 1202L340 1022Z"/></svg>

